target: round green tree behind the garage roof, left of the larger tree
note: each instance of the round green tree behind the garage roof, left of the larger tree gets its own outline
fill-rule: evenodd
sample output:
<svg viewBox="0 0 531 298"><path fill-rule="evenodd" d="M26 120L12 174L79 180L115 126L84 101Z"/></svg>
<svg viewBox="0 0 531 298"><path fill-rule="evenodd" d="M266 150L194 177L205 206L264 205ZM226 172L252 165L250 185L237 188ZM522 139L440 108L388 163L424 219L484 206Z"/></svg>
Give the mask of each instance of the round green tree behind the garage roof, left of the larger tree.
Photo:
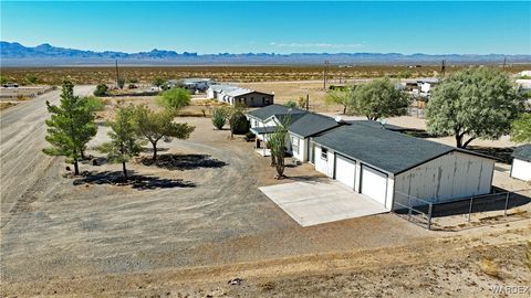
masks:
<svg viewBox="0 0 531 298"><path fill-rule="evenodd" d="M412 104L409 95L395 85L388 77L376 78L353 89L353 100L348 107L369 120L406 115Z"/></svg>

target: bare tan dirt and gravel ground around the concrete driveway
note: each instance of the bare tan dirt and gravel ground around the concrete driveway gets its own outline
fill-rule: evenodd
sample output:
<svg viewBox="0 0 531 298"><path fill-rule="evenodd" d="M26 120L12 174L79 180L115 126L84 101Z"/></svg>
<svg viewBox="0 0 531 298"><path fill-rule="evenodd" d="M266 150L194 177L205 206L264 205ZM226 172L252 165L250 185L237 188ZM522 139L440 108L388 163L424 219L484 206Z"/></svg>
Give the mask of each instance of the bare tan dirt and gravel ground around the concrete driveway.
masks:
<svg viewBox="0 0 531 298"><path fill-rule="evenodd" d="M153 164L148 149L129 162L133 183L118 183L121 166L92 149L96 164L86 160L72 177L62 158L41 152L45 100L56 104L59 91L0 114L2 297L498 297L499 287L530 295L530 219L444 232L388 213L301 227L258 187L325 178L303 164L272 179L252 142L215 130L208 117L176 118L196 131L162 143L164 162ZM101 126L90 147L106 131ZM525 187L503 171L497 183Z"/></svg>

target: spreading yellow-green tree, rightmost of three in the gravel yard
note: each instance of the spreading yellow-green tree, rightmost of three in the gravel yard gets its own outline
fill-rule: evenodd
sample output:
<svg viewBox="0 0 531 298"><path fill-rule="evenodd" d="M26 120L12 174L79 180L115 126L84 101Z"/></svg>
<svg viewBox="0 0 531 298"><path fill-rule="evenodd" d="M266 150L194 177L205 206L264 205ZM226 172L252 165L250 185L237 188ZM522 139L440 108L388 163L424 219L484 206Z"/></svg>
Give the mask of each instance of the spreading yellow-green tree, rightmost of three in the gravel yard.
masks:
<svg viewBox="0 0 531 298"><path fill-rule="evenodd" d="M153 147L153 160L157 159L157 142L165 142L173 138L187 139L195 127L188 124L174 123L174 115L167 110L154 111L147 106L136 107L138 132L144 136Z"/></svg>

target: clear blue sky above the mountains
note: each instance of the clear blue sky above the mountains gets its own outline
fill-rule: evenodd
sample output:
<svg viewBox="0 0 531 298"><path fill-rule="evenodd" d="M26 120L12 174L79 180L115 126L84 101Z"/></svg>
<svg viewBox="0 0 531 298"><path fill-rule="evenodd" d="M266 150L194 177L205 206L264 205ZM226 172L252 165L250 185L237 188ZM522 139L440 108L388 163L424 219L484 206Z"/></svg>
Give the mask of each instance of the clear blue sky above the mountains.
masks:
<svg viewBox="0 0 531 298"><path fill-rule="evenodd" d="M0 33L94 51L531 54L531 2L2 0Z"/></svg>

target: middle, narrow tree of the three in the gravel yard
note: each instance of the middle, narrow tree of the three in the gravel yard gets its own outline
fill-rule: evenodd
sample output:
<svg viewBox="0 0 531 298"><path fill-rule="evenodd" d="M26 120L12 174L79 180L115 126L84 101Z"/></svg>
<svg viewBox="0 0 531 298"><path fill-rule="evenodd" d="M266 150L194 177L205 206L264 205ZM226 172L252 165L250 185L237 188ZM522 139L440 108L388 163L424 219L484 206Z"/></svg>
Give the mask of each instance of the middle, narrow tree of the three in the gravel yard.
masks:
<svg viewBox="0 0 531 298"><path fill-rule="evenodd" d="M122 163L124 180L127 180L126 162L142 150L135 106L119 107L115 119L108 121L107 125L111 127L111 131L107 134L111 141L102 143L97 149L100 152L106 153L111 162Z"/></svg>

